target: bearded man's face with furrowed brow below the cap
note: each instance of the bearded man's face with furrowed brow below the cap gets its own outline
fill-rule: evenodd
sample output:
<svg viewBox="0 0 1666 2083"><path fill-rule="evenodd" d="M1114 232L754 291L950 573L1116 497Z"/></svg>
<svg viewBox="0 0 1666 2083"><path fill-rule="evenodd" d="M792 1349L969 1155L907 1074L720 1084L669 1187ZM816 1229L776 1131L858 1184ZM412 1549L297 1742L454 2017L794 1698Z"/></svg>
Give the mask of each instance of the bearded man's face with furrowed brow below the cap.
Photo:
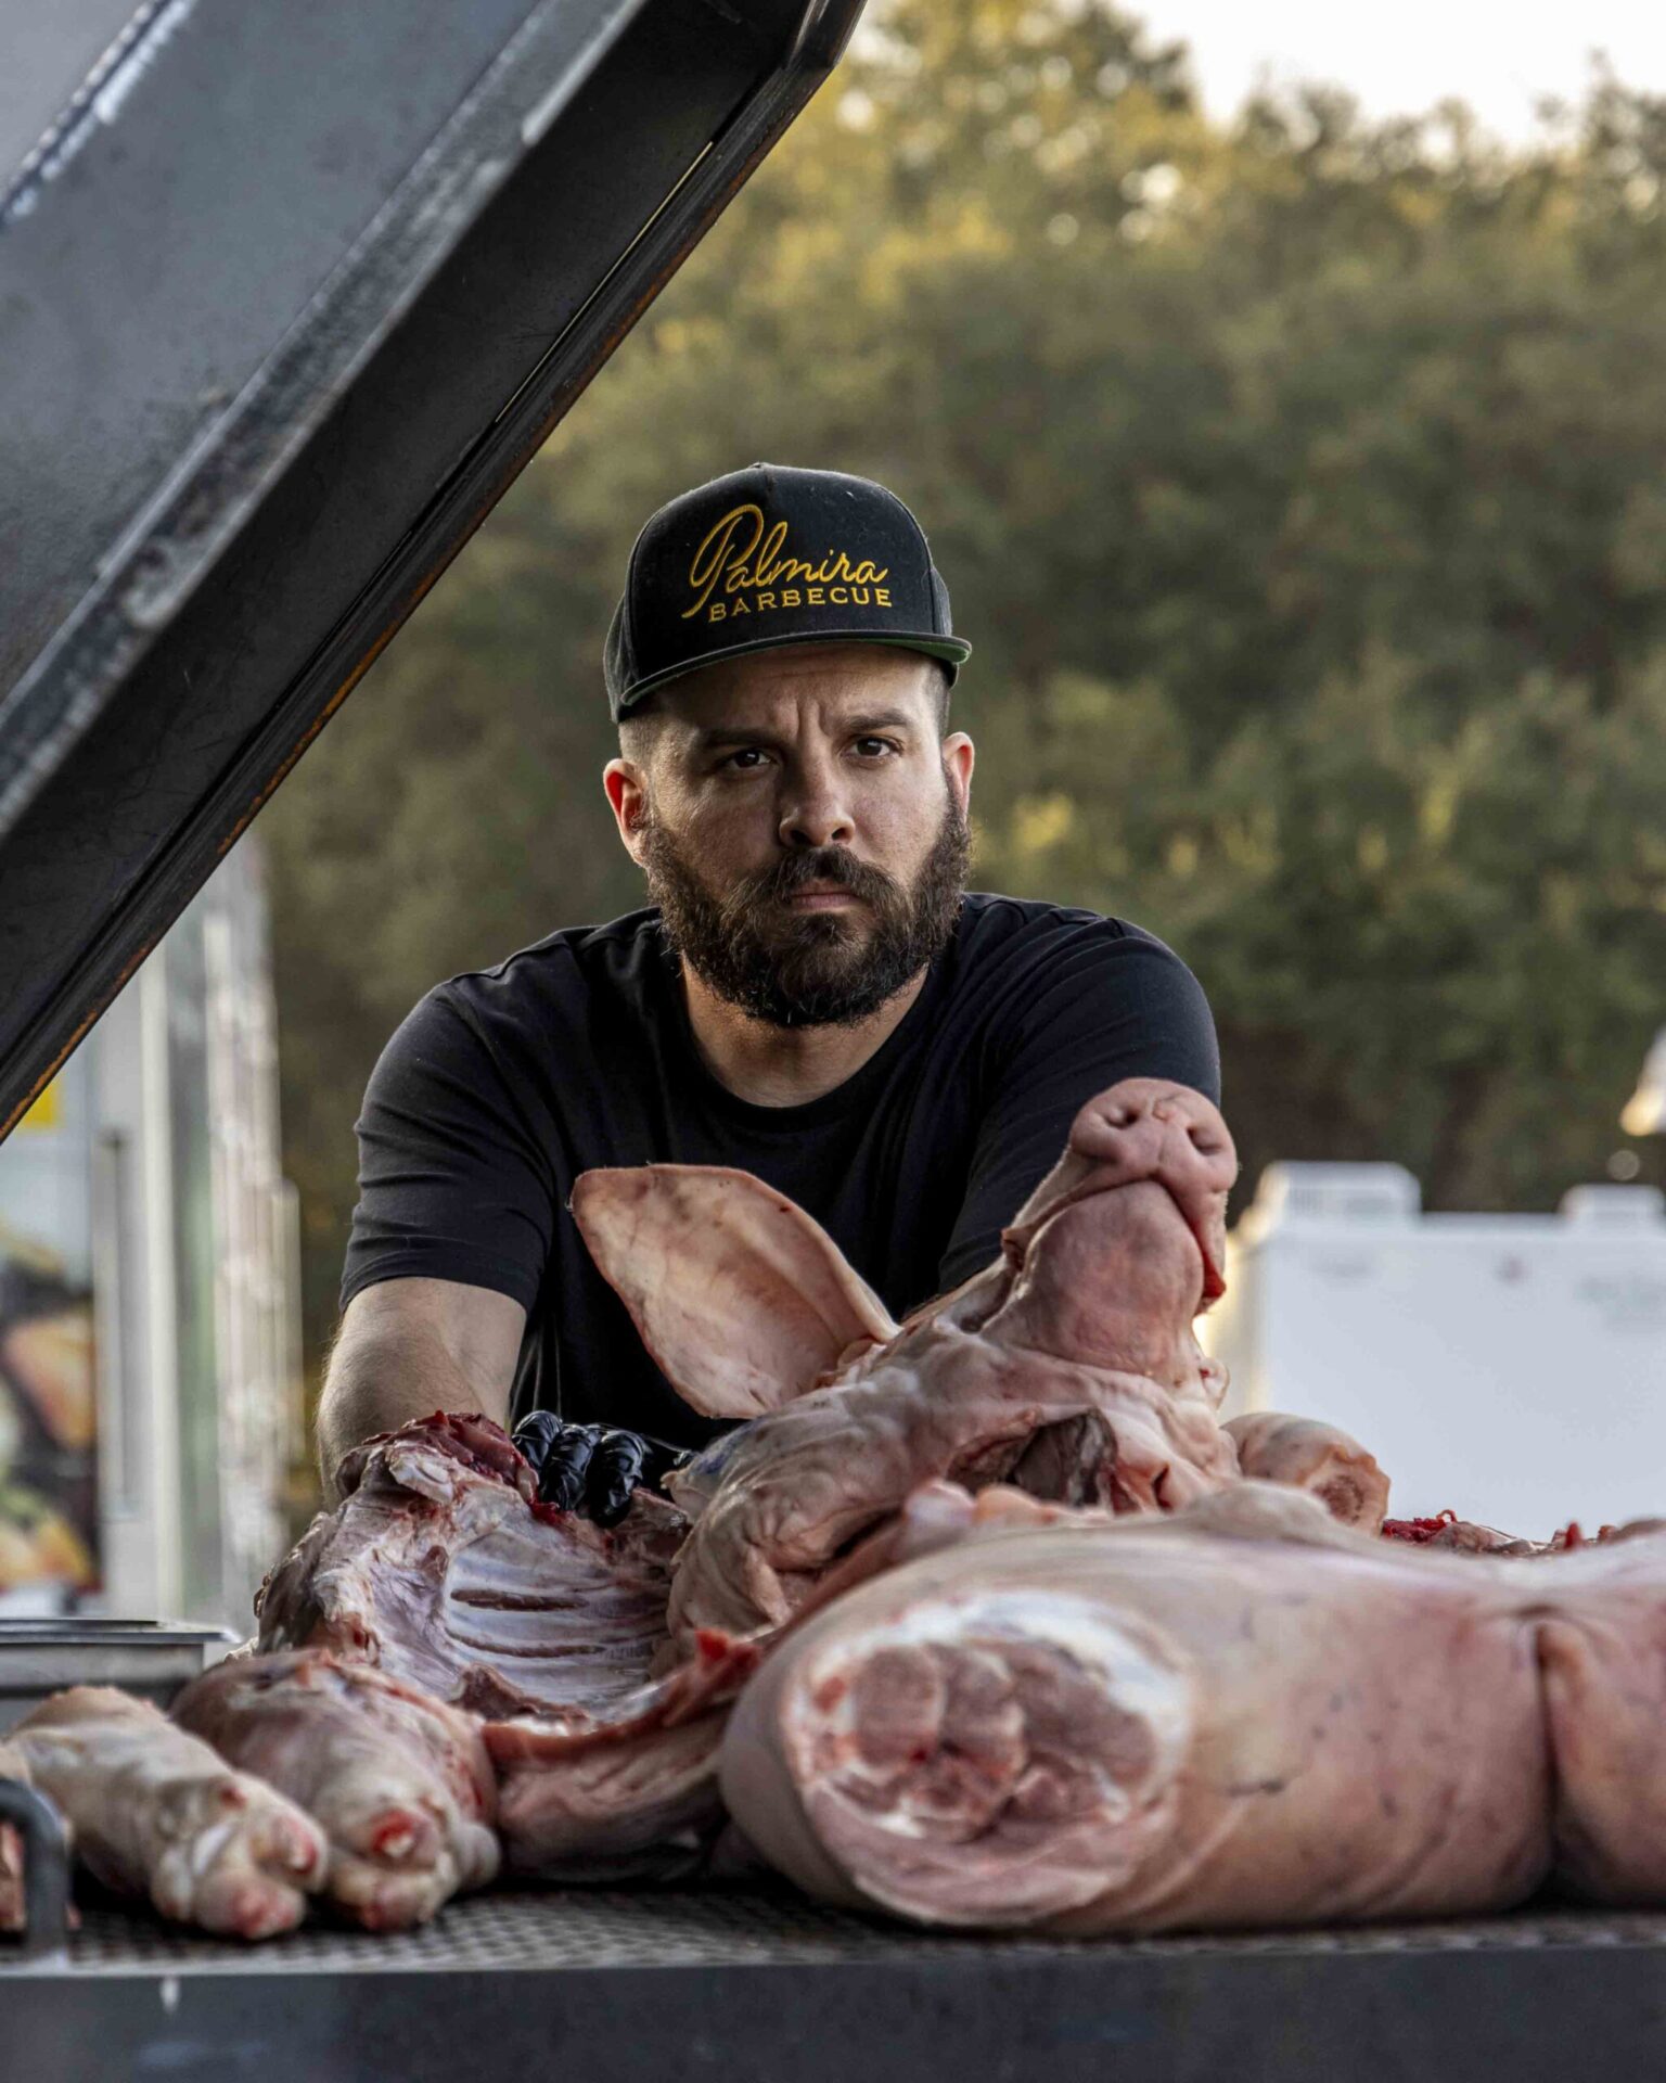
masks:
<svg viewBox="0 0 1666 2083"><path fill-rule="evenodd" d="M681 958L777 1027L877 1012L948 942L966 881L973 746L937 735L937 669L783 646L660 708L608 796Z"/></svg>

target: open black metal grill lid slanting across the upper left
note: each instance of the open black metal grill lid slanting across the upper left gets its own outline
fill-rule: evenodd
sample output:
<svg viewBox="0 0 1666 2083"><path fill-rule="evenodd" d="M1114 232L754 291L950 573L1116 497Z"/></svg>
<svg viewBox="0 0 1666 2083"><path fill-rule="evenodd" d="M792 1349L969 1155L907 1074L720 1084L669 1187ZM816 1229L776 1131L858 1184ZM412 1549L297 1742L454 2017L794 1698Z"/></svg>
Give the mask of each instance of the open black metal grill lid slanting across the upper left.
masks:
<svg viewBox="0 0 1666 2083"><path fill-rule="evenodd" d="M0 156L0 1133L858 10L150 0Z"/></svg>

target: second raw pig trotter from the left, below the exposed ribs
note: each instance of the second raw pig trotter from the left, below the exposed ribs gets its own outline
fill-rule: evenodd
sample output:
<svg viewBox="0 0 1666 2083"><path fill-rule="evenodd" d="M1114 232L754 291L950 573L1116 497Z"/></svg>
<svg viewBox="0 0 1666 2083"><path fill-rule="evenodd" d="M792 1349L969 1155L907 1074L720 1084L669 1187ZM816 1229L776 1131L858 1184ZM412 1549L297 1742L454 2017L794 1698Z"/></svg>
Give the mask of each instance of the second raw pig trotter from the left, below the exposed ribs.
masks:
<svg viewBox="0 0 1666 2083"><path fill-rule="evenodd" d="M479 1723L371 1664L237 1656L194 1679L173 1718L312 1816L325 1891L367 1931L425 1923L498 1873Z"/></svg>

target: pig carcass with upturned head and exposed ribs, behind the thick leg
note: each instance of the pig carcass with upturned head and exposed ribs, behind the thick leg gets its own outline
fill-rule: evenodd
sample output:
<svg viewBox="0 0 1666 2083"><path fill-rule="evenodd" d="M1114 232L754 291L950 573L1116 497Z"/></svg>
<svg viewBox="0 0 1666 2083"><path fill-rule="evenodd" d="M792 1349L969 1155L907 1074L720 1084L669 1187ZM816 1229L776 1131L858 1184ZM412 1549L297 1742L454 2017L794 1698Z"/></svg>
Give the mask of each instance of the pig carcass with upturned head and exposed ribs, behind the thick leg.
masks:
<svg viewBox="0 0 1666 2083"><path fill-rule="evenodd" d="M539 1504L483 1419L369 1441L269 1579L258 1648L371 1662L481 1714L510 1871L689 1871L762 1641L923 1479L1122 1510L1237 1481L1191 1335L1222 1285L1233 1171L1202 1096L1127 1081L1081 1110L1000 1260L904 1325L748 1175L587 1173L575 1214L650 1350L696 1408L756 1423L610 1533Z"/></svg>

